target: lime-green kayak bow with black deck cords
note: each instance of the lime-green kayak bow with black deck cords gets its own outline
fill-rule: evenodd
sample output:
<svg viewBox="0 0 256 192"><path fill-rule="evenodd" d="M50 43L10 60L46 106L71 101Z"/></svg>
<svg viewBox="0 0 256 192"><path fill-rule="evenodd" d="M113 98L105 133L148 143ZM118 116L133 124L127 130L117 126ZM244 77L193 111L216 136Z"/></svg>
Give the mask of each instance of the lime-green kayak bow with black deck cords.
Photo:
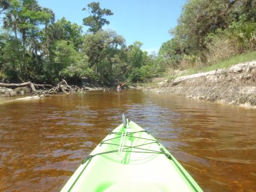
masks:
<svg viewBox="0 0 256 192"><path fill-rule="evenodd" d="M83 159L61 192L202 191L148 131L128 119Z"/></svg>

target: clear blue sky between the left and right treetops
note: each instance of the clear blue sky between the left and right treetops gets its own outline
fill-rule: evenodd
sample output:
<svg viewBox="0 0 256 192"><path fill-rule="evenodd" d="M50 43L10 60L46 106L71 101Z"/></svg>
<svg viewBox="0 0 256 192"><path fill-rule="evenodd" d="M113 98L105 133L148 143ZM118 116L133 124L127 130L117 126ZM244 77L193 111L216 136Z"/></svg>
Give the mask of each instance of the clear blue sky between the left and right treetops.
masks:
<svg viewBox="0 0 256 192"><path fill-rule="evenodd" d="M38 0L42 7L48 7L55 13L56 20L67 20L82 25L82 19L89 14L82 11L90 2L87 0ZM108 16L112 29L126 39L126 45L134 41L143 43L142 49L158 51L163 42L171 36L168 31L177 25L182 6L186 0L100 0L101 8L110 9L114 15ZM84 27L84 31L87 27Z"/></svg>

